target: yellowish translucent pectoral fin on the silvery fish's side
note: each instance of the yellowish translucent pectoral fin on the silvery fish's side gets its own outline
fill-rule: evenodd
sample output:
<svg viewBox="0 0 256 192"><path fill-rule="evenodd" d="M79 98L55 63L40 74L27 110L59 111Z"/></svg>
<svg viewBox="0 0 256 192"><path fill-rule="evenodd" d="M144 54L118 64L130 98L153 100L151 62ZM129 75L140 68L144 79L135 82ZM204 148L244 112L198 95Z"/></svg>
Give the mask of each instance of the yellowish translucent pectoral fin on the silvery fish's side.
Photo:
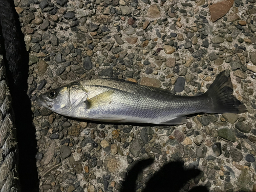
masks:
<svg viewBox="0 0 256 192"><path fill-rule="evenodd" d="M84 103L86 104L86 108L91 109L96 108L100 105L111 104L114 92L114 90L106 91L92 98L87 99L86 101L84 101Z"/></svg>

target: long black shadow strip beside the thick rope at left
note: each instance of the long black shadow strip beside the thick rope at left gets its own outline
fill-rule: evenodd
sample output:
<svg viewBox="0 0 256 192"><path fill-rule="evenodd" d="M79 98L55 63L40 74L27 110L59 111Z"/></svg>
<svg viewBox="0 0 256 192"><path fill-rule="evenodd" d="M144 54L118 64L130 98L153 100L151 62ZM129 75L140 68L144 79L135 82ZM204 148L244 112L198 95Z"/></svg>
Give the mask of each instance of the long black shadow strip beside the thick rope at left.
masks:
<svg viewBox="0 0 256 192"><path fill-rule="evenodd" d="M1 1L0 24L0 40L5 49L3 55L17 131L19 182L22 191L36 192L39 191L35 159L37 144L35 129L32 125L31 102L27 95L29 54L26 51L24 34L20 28L13 1Z"/></svg>

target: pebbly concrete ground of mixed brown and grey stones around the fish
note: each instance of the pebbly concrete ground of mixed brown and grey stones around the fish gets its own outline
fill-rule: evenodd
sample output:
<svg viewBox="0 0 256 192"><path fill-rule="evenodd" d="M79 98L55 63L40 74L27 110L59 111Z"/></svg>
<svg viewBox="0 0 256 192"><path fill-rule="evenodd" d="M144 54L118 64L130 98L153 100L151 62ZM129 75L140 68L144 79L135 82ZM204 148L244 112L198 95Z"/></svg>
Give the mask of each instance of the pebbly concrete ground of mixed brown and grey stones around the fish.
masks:
<svg viewBox="0 0 256 192"><path fill-rule="evenodd" d="M235 0L215 23L215 0L14 3L30 52L40 191L119 191L134 162L148 158L155 161L137 191L176 160L202 170L182 191L256 191L255 0ZM223 70L247 113L194 115L179 126L112 125L69 119L34 101L51 88L104 77L193 96Z"/></svg>

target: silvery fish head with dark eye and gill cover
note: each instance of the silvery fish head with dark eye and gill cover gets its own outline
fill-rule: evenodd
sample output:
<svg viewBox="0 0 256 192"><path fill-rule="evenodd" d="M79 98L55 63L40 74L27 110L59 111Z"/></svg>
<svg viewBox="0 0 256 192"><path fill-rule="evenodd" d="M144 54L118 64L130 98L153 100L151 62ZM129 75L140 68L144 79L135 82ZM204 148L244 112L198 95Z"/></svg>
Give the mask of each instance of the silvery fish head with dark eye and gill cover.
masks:
<svg viewBox="0 0 256 192"><path fill-rule="evenodd" d="M80 89L79 83L71 83L57 89L52 89L37 97L37 103L61 115L69 115L84 99L86 92Z"/></svg>

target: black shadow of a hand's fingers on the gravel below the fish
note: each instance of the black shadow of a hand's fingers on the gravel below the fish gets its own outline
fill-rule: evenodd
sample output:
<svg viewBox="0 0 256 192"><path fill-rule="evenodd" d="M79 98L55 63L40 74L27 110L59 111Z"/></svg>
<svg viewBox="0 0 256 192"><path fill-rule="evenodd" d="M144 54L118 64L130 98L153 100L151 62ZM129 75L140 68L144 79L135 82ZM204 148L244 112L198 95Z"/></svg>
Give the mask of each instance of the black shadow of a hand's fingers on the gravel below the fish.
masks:
<svg viewBox="0 0 256 192"><path fill-rule="evenodd" d="M127 177L122 182L120 192L134 192L137 187L137 178L142 170L151 164L153 159L139 160L134 162L133 167L127 174ZM145 188L142 192L156 191L172 191L178 192L182 187L193 178L196 178L201 173L201 170L196 168L186 169L182 161L168 162L161 167L148 181L145 183ZM196 186L189 192L208 192L205 186Z"/></svg>

